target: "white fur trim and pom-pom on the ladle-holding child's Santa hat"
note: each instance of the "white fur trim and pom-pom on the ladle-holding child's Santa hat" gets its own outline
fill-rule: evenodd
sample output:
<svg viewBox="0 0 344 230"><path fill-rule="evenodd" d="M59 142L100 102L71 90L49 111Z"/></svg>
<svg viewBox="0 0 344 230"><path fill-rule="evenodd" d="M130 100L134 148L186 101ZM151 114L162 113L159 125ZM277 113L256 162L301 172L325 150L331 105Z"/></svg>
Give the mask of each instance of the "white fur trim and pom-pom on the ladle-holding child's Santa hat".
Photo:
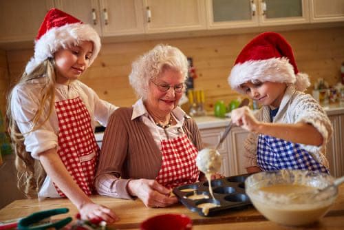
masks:
<svg viewBox="0 0 344 230"><path fill-rule="evenodd" d="M307 74L295 76L294 67L286 57L239 63L232 68L228 77L229 85L239 92L241 84L252 80L295 84L300 91L310 85Z"/></svg>

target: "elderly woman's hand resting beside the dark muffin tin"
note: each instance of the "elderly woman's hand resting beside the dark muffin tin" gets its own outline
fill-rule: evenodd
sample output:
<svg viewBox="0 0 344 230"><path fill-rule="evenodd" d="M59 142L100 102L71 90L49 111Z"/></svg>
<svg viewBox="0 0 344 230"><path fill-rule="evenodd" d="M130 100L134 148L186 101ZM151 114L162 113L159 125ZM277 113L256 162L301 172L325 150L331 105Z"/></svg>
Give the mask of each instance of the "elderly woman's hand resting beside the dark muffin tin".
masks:
<svg viewBox="0 0 344 230"><path fill-rule="evenodd" d="M170 197L171 189L166 189L156 180L130 180L127 184L131 196L137 196L146 207L167 207L178 202L178 198Z"/></svg>

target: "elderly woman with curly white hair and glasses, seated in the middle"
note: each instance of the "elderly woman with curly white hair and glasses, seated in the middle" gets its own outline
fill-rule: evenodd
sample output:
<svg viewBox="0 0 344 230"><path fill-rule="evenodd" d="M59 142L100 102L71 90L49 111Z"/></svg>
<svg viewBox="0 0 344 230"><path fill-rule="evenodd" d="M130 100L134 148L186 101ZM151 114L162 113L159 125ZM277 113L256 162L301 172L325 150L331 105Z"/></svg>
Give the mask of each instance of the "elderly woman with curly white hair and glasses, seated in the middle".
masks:
<svg viewBox="0 0 344 230"><path fill-rule="evenodd" d="M95 179L99 194L166 207L178 201L171 188L199 180L200 132L177 106L187 72L186 56L169 45L133 63L129 81L140 99L109 118Z"/></svg>

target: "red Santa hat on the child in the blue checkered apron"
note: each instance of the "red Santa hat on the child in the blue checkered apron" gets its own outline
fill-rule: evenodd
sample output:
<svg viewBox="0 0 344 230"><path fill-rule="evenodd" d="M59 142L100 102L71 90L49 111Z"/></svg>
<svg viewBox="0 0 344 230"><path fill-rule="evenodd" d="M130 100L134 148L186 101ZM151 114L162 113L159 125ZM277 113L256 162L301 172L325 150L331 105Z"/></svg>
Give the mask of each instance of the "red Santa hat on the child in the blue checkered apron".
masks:
<svg viewBox="0 0 344 230"><path fill-rule="evenodd" d="M304 91L310 86L308 74L300 73L292 47L280 34L264 32L241 50L228 77L228 83L237 91L248 81L271 81L294 84Z"/></svg>

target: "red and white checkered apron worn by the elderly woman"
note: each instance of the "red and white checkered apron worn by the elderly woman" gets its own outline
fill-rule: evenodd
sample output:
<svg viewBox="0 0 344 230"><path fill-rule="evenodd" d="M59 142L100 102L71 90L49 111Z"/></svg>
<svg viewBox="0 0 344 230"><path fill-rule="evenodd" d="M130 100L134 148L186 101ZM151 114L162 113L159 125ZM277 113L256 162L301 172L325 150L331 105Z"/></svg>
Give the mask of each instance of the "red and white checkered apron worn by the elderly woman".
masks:
<svg viewBox="0 0 344 230"><path fill-rule="evenodd" d="M155 178L167 188L191 184L198 180L200 171L196 166L198 150L186 134L160 142L162 165Z"/></svg>

